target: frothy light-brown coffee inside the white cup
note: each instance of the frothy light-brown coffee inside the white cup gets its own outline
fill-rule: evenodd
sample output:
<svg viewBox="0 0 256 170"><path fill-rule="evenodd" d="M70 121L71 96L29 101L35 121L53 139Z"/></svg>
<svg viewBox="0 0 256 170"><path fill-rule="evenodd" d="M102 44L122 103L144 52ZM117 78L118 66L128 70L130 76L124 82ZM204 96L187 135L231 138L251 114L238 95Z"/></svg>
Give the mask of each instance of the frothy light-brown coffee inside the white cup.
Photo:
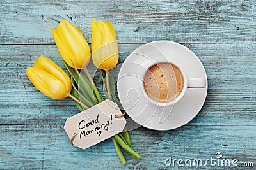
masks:
<svg viewBox="0 0 256 170"><path fill-rule="evenodd" d="M184 87L180 69L162 62L150 67L144 76L144 89L154 101L166 103L178 97Z"/></svg>

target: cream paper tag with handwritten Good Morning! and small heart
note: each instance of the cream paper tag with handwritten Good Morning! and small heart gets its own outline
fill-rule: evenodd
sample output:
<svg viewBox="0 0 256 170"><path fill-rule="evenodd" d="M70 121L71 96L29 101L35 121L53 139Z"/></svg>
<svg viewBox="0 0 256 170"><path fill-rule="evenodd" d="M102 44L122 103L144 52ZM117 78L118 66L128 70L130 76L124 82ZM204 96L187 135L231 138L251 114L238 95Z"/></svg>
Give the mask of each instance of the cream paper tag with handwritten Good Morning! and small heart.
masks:
<svg viewBox="0 0 256 170"><path fill-rule="evenodd" d="M106 100L68 118L64 129L70 139L76 133L74 146L86 149L123 131L125 118L115 118L120 114L118 105Z"/></svg>

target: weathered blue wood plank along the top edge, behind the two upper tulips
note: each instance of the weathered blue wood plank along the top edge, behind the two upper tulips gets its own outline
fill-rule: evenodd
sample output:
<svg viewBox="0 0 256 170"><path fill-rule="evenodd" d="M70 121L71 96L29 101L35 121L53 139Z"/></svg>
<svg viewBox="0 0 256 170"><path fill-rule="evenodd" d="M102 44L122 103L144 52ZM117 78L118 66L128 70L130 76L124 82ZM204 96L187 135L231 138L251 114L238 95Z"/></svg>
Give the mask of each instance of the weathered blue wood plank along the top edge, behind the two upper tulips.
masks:
<svg viewBox="0 0 256 170"><path fill-rule="evenodd" d="M0 6L0 44L54 43L49 28L60 20L74 23L90 41L92 18L113 23L120 41L256 41L254 0L4 0Z"/></svg>

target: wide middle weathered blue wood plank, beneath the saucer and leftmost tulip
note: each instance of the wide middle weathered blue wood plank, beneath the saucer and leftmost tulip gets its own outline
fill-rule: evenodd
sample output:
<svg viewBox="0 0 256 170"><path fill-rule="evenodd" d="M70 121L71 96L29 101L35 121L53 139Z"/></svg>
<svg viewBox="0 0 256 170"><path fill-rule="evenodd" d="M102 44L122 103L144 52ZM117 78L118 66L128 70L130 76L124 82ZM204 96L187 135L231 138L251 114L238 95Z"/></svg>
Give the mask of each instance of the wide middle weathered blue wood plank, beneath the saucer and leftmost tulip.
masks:
<svg viewBox="0 0 256 170"><path fill-rule="evenodd" d="M204 107L189 125L255 125L256 46L184 45L202 60L209 81ZM120 62L137 46L120 45L120 51L126 52L121 53ZM63 67L55 45L1 45L0 51L0 124L63 125L66 118L78 113L70 99L49 99L26 77L26 68L33 66L39 55Z"/></svg>

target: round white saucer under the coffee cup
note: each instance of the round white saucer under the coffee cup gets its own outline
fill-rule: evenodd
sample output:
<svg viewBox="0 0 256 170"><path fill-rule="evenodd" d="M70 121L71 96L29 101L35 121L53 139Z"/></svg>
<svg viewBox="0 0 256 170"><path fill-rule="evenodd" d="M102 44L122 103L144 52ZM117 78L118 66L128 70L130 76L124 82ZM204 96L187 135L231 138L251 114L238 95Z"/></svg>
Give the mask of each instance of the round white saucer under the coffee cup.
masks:
<svg viewBox="0 0 256 170"><path fill-rule="evenodd" d="M156 106L141 92L139 67L146 60L165 57L182 66L187 78L205 78L205 88L188 88L184 97L174 106ZM125 59L117 82L120 102L129 117L149 129L170 130L187 124L201 110L207 95L207 76L198 57L186 46L172 41L154 41L140 46ZM163 113L170 115L159 122Z"/></svg>

